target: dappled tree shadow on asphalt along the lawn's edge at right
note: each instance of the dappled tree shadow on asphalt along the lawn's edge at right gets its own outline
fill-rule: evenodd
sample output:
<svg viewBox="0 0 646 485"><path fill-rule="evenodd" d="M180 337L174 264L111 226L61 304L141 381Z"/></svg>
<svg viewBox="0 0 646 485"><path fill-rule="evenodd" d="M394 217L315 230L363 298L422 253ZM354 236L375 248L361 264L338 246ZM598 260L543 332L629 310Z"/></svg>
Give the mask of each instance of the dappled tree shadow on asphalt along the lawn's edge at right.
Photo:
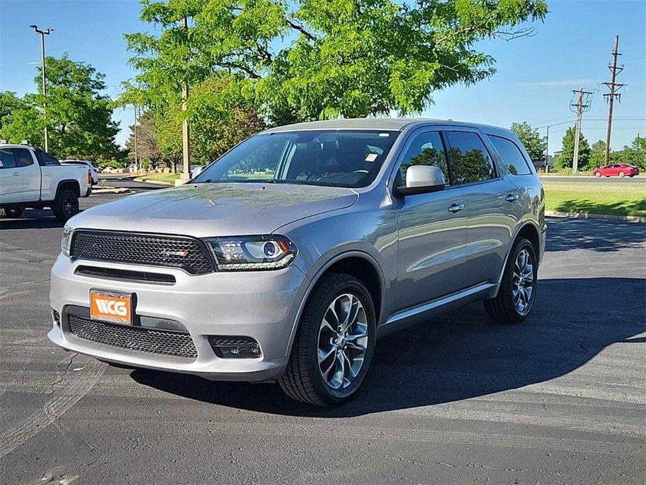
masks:
<svg viewBox="0 0 646 485"><path fill-rule="evenodd" d="M594 219L548 219L547 251L592 249L598 252L619 251L643 244L646 226L633 222Z"/></svg>

